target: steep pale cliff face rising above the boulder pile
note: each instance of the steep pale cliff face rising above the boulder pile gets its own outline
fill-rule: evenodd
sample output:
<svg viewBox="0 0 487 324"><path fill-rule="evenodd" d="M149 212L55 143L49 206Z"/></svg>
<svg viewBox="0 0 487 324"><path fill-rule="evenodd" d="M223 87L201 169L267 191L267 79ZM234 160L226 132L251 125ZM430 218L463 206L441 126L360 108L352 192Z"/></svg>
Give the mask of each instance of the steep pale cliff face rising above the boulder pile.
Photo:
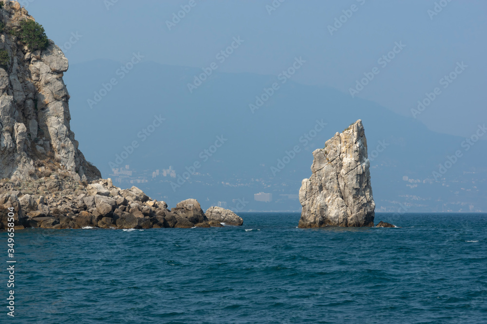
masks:
<svg viewBox="0 0 487 324"><path fill-rule="evenodd" d="M28 181L51 173L77 181L100 178L70 129L62 79L68 60L51 40L45 50L29 51L13 34L22 20L34 18L17 1L3 2L0 50L10 62L0 67L0 178Z"/></svg>

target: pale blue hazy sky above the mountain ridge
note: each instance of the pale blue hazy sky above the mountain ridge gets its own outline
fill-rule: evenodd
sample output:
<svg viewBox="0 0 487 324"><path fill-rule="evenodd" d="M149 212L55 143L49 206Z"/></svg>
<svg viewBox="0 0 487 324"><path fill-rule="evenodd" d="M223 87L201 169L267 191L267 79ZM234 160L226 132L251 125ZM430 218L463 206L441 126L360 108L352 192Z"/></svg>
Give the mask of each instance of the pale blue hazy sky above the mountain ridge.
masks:
<svg viewBox="0 0 487 324"><path fill-rule="evenodd" d="M70 64L126 62L140 52L146 61L203 68L240 36L242 44L219 71L278 75L302 57L306 63L293 81L349 93L364 73L373 74L355 95L405 116L438 87L416 116L431 130L470 136L487 122L485 1L281 1L19 2ZM183 18L173 20L183 9ZM70 38L73 44L63 46ZM392 59L378 61L388 53ZM454 80L443 79L450 73Z"/></svg>

